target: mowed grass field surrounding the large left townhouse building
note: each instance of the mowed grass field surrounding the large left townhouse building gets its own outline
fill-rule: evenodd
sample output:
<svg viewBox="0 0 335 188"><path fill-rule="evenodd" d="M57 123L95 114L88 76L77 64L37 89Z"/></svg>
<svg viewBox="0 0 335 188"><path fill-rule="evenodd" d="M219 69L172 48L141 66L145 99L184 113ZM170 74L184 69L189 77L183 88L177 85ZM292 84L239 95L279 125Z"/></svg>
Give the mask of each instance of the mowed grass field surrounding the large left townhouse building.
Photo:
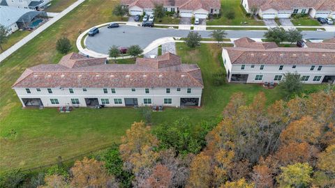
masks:
<svg viewBox="0 0 335 188"><path fill-rule="evenodd" d="M117 1L85 1L1 63L0 171L53 164L59 156L69 159L114 142L119 143L131 123L142 119L140 110L133 108L80 108L71 113L59 113L57 109L22 109L10 88L26 68L40 63L58 63L61 54L56 52L55 43L61 36L70 38L74 45L80 28L84 30L115 20L111 13L115 3ZM216 44L202 44L197 49L188 49L184 43L178 43L177 53L184 63L198 63L202 69L202 107L169 108L152 113L153 126L179 118L189 118L193 123L215 121L236 92L244 93L251 100L263 91L267 95L267 104L283 97L278 88L269 90L253 84L214 86L211 75L222 68L221 47ZM305 89L321 87L305 86Z"/></svg>

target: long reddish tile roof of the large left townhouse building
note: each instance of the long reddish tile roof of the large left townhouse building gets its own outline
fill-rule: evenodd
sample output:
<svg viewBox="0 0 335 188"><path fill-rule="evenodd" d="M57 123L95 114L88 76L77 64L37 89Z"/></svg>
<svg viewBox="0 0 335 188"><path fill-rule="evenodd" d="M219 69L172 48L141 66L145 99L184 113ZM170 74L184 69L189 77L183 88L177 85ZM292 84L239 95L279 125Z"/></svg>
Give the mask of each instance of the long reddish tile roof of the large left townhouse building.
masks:
<svg viewBox="0 0 335 188"><path fill-rule="evenodd" d="M154 62L157 65L154 65ZM25 70L13 88L203 88L203 86L198 65L183 64L178 56L169 53L158 56L154 61L151 58L140 58L135 64L102 64L75 68L68 68L60 63L37 65Z"/></svg>

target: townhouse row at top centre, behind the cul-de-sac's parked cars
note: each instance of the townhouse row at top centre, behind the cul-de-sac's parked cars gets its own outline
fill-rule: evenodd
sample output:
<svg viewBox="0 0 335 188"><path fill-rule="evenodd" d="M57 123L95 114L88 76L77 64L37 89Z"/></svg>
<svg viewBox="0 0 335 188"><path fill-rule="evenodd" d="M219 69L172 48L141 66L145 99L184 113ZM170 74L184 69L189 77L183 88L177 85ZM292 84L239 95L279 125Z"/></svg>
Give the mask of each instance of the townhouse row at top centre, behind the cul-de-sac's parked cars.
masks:
<svg viewBox="0 0 335 188"><path fill-rule="evenodd" d="M128 6L129 15L150 15L154 13L155 4L163 4L164 10L179 13L180 17L207 18L220 13L220 0L121 0Z"/></svg>

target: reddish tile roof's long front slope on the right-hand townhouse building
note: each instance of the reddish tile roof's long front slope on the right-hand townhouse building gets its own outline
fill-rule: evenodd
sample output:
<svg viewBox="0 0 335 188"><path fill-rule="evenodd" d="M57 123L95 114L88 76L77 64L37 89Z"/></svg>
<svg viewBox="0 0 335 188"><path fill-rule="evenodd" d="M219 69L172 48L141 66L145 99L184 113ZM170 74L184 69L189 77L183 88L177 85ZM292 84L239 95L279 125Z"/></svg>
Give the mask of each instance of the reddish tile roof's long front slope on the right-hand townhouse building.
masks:
<svg viewBox="0 0 335 188"><path fill-rule="evenodd" d="M232 64L335 65L335 50L299 47L225 47Z"/></svg>

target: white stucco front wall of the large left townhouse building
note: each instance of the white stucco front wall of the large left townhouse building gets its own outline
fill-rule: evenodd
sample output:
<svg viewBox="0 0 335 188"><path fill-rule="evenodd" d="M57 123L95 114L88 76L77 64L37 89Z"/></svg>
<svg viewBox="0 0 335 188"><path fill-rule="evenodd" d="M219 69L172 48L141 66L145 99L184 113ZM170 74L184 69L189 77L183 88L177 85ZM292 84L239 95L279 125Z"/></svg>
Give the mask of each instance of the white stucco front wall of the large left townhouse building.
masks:
<svg viewBox="0 0 335 188"><path fill-rule="evenodd" d="M163 105L165 107L179 107L182 97L199 98L199 106L201 102L202 88L191 88L191 93L187 93L187 88L170 88L170 93L166 93L166 88L149 88L149 93L145 93L145 88L135 88L136 91L131 91L131 88L115 88L116 93L112 93L111 88L107 88L108 93L103 93L103 88L87 88L83 91L82 88L73 88L74 93L70 93L68 88L52 88L52 93L47 92L47 88L29 88L31 93L27 93L25 88L14 88L17 96L20 98L40 98L44 107L86 107L85 98L98 98L99 104L101 99L108 99L110 104L105 104L106 107L125 107L124 98L137 98L139 106L145 106L144 98L151 99L151 105ZM164 104L164 99L172 99L172 104ZM59 100L59 104L51 104L50 99ZM78 99L80 104L72 104L71 99ZM114 99L121 99L122 104L114 104ZM22 100L21 100L22 102ZM22 106L24 106L22 102Z"/></svg>

